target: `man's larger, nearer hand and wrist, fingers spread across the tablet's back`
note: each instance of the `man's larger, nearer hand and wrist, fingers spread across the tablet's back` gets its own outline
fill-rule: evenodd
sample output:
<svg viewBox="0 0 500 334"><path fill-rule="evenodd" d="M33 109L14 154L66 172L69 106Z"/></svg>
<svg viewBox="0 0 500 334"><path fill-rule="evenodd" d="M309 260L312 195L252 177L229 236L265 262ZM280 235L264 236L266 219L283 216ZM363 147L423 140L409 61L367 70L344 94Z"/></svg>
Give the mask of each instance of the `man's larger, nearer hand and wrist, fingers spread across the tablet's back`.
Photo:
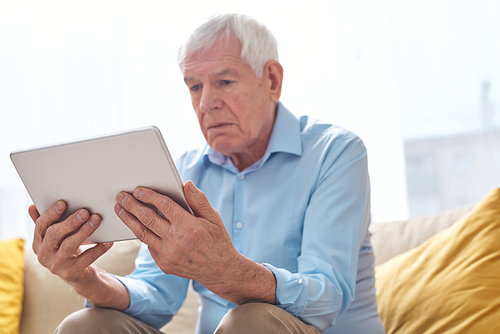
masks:
<svg viewBox="0 0 500 334"><path fill-rule="evenodd" d="M219 214L193 182L186 182L184 195L195 216L169 197L142 187L133 195L118 194L115 211L149 246L165 273L194 279L235 304L274 304L273 273L238 253Z"/></svg>

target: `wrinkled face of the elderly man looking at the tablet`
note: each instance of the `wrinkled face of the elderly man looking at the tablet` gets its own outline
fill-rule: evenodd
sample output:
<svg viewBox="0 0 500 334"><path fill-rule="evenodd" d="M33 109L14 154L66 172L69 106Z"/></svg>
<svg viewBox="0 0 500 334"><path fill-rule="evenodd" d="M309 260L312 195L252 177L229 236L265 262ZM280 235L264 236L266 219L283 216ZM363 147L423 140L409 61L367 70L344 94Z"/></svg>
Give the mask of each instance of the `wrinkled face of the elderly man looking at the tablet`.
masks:
<svg viewBox="0 0 500 334"><path fill-rule="evenodd" d="M182 65L205 139L215 150L231 156L235 165L241 155L257 160L264 154L277 102L270 96L265 74L257 78L240 54L235 37L219 39Z"/></svg>

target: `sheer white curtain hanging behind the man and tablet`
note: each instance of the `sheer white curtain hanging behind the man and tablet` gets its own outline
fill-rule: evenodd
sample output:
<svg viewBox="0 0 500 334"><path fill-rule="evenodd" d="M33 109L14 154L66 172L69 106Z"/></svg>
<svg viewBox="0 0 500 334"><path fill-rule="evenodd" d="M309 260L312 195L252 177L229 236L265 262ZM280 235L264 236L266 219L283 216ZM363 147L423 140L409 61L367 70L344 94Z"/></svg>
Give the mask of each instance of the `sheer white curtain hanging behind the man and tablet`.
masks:
<svg viewBox="0 0 500 334"><path fill-rule="evenodd" d="M203 142L176 58L215 12L275 33L282 102L358 133L374 219L408 215L392 1L0 0L0 238L33 228L13 150L151 124L173 156Z"/></svg>

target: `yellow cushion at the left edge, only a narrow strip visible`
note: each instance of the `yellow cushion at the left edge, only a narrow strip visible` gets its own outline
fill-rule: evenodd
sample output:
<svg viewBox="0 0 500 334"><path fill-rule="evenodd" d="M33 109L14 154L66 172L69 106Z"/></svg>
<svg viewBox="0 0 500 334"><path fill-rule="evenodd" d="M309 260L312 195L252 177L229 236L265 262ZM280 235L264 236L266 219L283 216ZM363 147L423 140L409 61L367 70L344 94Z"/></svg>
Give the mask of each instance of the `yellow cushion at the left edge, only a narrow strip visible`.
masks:
<svg viewBox="0 0 500 334"><path fill-rule="evenodd" d="M19 333L23 306L24 240L0 240L0 332Z"/></svg>

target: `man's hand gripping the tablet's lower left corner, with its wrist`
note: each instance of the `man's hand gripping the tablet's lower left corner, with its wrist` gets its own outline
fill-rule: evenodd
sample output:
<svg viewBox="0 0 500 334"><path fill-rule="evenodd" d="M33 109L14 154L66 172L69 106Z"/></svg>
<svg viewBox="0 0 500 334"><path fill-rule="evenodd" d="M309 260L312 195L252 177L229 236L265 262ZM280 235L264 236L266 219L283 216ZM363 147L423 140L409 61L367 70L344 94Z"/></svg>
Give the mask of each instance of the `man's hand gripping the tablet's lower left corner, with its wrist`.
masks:
<svg viewBox="0 0 500 334"><path fill-rule="evenodd" d="M129 296L123 285L92 264L106 253L113 243L97 244L85 251L81 248L82 242L99 227L101 218L80 209L59 222L65 210L64 201L57 201L43 215L39 214L34 205L29 207L29 214L35 222L33 251L38 256L38 261L95 306L126 309ZM106 283L102 284L104 282ZM121 297L106 293L107 291L103 290L106 286L115 286L116 291L121 291Z"/></svg>

